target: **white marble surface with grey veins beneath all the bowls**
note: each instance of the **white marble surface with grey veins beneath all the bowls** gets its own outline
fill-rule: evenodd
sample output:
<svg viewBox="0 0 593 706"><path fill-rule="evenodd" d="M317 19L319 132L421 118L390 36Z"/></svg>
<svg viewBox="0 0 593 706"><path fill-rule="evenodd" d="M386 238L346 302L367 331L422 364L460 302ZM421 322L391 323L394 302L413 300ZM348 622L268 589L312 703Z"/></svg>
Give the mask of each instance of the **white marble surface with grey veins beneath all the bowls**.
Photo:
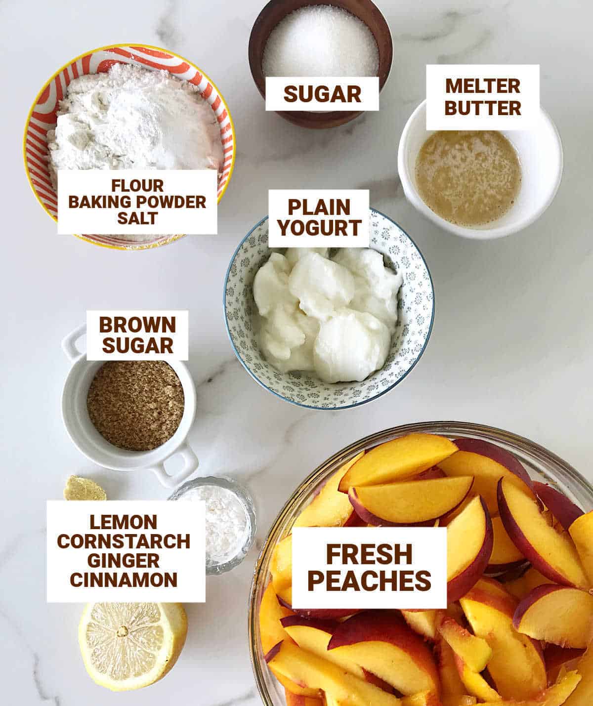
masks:
<svg viewBox="0 0 593 706"><path fill-rule="evenodd" d="M78 605L44 598L44 503L85 473L112 498L164 498L146 474L93 467L66 437L59 413L68 369L59 342L85 309L190 309L198 415L191 444L204 473L229 473L258 504L258 546L289 491L335 450L408 421L460 419L539 441L593 478L591 467L591 193L593 11L582 0L383 0L394 38L381 112L309 132L266 114L251 80L247 42L263 0L2 0L4 155L0 511L0 702L7 706L252 706L246 638L252 551L208 582L188 606L181 659L149 689L95 686L76 643ZM120 253L71 237L30 193L20 140L42 82L108 42L136 40L188 56L216 81L236 124L238 155L220 208L220 235ZM541 102L561 133L565 174L556 201L525 232L471 242L442 232L405 201L397 141L423 98L424 65L539 63ZM370 188L371 203L412 235L436 287L424 358L389 395L344 412L277 400L234 358L222 320L222 282L239 239L266 213L268 188Z"/></svg>

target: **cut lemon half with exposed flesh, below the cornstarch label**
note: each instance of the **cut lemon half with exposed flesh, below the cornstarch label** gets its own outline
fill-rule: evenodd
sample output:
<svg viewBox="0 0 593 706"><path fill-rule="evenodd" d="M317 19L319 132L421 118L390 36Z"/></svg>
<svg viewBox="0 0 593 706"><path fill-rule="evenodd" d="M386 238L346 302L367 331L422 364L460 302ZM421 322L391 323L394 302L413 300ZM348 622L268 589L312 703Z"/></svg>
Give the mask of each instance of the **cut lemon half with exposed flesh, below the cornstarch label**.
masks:
<svg viewBox="0 0 593 706"><path fill-rule="evenodd" d="M88 674L100 686L150 686L172 668L187 635L181 603L88 603L78 642Z"/></svg>

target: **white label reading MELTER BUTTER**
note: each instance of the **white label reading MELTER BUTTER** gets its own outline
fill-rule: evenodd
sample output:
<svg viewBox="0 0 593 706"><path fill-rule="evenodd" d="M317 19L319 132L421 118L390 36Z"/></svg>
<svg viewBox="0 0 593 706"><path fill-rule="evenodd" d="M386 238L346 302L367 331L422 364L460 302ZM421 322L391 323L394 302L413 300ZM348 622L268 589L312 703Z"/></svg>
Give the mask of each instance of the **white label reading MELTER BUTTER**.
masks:
<svg viewBox="0 0 593 706"><path fill-rule="evenodd" d="M529 130L539 113L539 64L426 66L427 130Z"/></svg>

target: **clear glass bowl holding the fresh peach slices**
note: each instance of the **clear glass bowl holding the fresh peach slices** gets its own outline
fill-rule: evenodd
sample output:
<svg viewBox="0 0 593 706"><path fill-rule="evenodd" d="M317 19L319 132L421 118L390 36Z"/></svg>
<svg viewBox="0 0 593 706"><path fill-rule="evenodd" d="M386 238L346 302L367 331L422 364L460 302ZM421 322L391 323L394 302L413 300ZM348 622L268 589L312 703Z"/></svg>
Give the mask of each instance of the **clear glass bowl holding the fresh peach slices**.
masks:
<svg viewBox="0 0 593 706"><path fill-rule="evenodd" d="M361 450L368 450L384 441L408 434L424 432L441 434L448 438L467 436L484 441L491 441L517 456L531 475L532 479L545 481L563 491L573 502L589 512L593 510L593 486L572 466L529 439L517 436L510 431L494 429L491 426L467 424L459 421L428 421L421 424L406 424L386 429L371 436L366 436L335 453L318 466L292 493L280 514L276 517L263 549L256 563L249 599L249 650L251 664L258 690L265 706L284 706L284 689L270 673L263 659L260 644L258 609L262 594L270 580L270 559L277 542L289 534L296 516L308 505L321 489L325 481L349 458Z"/></svg>

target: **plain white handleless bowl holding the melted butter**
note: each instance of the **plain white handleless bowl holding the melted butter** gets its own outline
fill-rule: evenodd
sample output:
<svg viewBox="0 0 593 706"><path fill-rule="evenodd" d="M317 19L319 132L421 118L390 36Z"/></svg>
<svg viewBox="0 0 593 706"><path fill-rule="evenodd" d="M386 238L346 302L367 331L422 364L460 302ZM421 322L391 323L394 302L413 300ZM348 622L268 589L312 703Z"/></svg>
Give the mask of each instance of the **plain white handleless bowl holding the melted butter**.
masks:
<svg viewBox="0 0 593 706"><path fill-rule="evenodd" d="M416 185L418 152L433 132L426 130L426 101L423 101L409 116L402 132L397 152L397 170L408 201L441 228L465 238L501 238L537 220L556 196L562 179L562 143L550 116L541 109L536 128L501 131L517 150L522 170L521 189L510 210L496 221L473 228L448 222L422 201Z"/></svg>

